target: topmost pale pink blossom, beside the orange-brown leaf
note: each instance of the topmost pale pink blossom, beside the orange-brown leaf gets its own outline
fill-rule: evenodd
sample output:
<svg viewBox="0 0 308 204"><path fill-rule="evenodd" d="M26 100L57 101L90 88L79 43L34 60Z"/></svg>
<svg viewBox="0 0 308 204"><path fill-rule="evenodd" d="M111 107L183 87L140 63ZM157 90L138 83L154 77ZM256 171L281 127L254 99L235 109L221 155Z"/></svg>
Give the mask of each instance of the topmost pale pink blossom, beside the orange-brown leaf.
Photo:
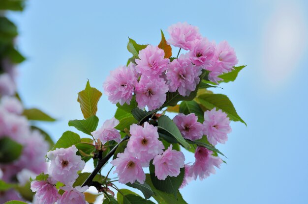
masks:
<svg viewBox="0 0 308 204"><path fill-rule="evenodd" d="M191 26L186 22L169 26L168 32L170 34L168 43L186 51L191 49L193 41L202 39L198 27Z"/></svg>

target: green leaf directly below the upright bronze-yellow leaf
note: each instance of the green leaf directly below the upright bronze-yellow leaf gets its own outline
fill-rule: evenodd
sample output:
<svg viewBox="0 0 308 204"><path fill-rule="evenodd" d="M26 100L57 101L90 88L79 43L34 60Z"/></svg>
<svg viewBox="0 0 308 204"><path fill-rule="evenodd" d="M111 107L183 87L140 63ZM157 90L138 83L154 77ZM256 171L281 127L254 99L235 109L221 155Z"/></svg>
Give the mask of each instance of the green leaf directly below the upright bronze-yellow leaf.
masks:
<svg viewBox="0 0 308 204"><path fill-rule="evenodd" d="M92 115L85 120L73 120L68 122L68 126L73 126L88 135L92 135L91 132L97 128L97 125L98 118L95 115Z"/></svg>

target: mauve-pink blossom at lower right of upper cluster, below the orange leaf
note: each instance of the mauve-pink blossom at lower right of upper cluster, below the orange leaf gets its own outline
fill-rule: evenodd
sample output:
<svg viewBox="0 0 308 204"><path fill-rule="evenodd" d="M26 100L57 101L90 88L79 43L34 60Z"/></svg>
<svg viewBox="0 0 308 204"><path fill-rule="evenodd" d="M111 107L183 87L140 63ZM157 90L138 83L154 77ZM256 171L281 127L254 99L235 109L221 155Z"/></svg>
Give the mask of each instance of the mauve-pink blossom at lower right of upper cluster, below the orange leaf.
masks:
<svg viewBox="0 0 308 204"><path fill-rule="evenodd" d="M194 66L187 55L181 54L179 59L173 60L168 65L167 84L169 91L178 90L182 96L189 96L191 91L196 89L196 85L200 82L202 73L200 66Z"/></svg>

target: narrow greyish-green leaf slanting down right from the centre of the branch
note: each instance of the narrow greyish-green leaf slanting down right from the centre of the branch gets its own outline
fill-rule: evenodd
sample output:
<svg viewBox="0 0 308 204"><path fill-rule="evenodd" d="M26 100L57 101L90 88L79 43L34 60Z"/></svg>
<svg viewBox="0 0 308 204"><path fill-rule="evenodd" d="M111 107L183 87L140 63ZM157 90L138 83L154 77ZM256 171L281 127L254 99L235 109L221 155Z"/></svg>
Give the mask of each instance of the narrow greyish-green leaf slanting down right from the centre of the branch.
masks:
<svg viewBox="0 0 308 204"><path fill-rule="evenodd" d="M176 138L179 143L181 143L186 149L189 149L189 144L183 138L179 128L174 124L174 122L165 115L162 115L158 118L158 128L161 128L171 134Z"/></svg>

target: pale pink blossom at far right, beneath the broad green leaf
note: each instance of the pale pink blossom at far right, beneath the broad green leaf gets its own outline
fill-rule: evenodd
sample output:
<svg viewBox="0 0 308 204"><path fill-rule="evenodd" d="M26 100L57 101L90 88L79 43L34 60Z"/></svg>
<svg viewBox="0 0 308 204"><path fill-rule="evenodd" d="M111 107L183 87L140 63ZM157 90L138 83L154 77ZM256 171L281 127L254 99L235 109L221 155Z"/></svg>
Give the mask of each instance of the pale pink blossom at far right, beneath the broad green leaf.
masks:
<svg viewBox="0 0 308 204"><path fill-rule="evenodd" d="M216 111L216 108L204 113L203 125L204 134L212 145L216 145L217 142L224 144L228 140L227 134L232 131L227 114L220 109Z"/></svg>

